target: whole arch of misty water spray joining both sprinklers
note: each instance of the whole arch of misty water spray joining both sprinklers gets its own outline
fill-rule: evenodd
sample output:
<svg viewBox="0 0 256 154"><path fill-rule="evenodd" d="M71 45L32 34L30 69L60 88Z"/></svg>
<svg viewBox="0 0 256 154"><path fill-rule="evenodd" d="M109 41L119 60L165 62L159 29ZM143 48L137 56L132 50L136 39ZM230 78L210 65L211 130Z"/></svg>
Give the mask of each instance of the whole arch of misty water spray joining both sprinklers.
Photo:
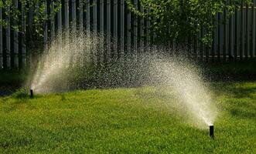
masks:
<svg viewBox="0 0 256 154"><path fill-rule="evenodd" d="M39 59L31 88L42 93L154 85L169 95L175 91L179 99L174 105L196 126L213 124L217 109L196 65L155 47L130 52L113 51L113 47L104 44L98 34L73 31L59 35Z"/></svg>

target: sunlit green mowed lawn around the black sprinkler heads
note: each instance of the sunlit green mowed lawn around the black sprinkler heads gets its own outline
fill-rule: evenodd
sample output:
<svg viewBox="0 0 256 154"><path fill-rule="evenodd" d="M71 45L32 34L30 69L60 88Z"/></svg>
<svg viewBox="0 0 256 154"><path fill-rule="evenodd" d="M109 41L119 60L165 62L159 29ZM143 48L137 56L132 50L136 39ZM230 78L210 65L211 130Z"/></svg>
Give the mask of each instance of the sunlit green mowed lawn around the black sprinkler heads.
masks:
<svg viewBox="0 0 256 154"><path fill-rule="evenodd" d="M158 89L94 89L0 98L0 152L255 153L256 82L210 85L220 110L215 139Z"/></svg>

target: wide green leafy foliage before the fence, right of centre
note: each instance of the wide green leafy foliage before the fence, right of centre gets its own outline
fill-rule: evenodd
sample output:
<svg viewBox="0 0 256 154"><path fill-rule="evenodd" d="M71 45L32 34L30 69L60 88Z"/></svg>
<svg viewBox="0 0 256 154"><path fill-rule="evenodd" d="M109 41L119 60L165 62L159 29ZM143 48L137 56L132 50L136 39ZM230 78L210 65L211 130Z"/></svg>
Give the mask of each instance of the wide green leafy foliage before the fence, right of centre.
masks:
<svg viewBox="0 0 256 154"><path fill-rule="evenodd" d="M241 1L140 0L140 5L145 10L141 12L135 8L134 1L126 0L132 12L147 18L151 23L150 35L155 34L156 42L185 42L187 38L204 32L202 41L208 45L212 41L213 29L216 28L216 15L226 10L228 17Z"/></svg>

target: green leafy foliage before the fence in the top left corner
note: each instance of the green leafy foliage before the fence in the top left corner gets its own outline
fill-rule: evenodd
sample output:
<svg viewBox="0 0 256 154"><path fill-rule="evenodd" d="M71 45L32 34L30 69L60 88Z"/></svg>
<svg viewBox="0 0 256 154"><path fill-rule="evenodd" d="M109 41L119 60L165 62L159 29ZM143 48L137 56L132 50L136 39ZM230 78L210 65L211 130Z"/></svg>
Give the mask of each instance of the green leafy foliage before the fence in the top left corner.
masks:
<svg viewBox="0 0 256 154"><path fill-rule="evenodd" d="M48 1L47 1L48 2ZM2 14L5 18L2 18L0 24L3 26L10 26L12 30L22 32L23 23L25 26L29 26L29 22L24 22L29 18L29 11L32 11L32 22L33 29L32 33L43 35L43 23L53 18L53 15L46 15L46 1L45 0L5 0L0 2L0 8L2 8ZM19 8L20 6L20 8ZM60 10L61 4L59 1L54 1L54 11L58 12ZM22 16L24 15L24 18ZM10 24L15 23L15 24ZM23 33L23 32L22 32Z"/></svg>

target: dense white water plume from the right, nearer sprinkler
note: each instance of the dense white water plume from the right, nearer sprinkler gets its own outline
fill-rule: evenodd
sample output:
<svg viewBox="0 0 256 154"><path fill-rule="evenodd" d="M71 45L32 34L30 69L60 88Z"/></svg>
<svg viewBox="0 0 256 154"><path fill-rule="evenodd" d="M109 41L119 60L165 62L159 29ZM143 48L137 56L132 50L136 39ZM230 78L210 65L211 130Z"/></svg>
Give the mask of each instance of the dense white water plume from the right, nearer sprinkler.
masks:
<svg viewBox="0 0 256 154"><path fill-rule="evenodd" d="M213 125L217 108L196 65L186 59L172 58L153 62L151 69L153 79L158 79L159 85L167 92L176 92L179 98L176 108L188 112L190 122L200 128L206 128L205 124Z"/></svg>

